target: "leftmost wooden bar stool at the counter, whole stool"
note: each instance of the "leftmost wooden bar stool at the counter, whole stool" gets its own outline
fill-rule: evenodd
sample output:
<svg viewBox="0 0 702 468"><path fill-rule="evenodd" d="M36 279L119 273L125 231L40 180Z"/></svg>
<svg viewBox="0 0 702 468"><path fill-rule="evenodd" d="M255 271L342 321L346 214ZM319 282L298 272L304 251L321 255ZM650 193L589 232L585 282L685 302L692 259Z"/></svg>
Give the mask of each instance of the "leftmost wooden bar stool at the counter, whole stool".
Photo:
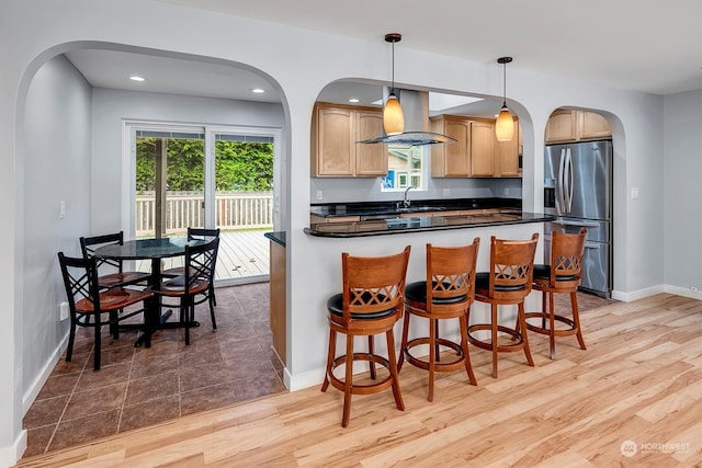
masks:
<svg viewBox="0 0 702 468"><path fill-rule="evenodd" d="M408 246L403 252L387 256L351 256L347 252L341 254L343 290L327 301L329 351L321 391L327 391L329 384L343 391L343 427L349 425L351 395L377 393L392 387L397 409L405 410L399 392L393 327L403 317L409 251ZM347 339L346 354L339 357L335 357L337 333L343 333ZM386 336L387 358L374 352L373 338L381 333ZM354 336L367 336L367 353L353 351ZM376 364L385 367L389 375L377 383L353 384L354 361L369 362L372 380L376 379ZM339 378L335 375L335 369L342 364L346 365L346 375Z"/></svg>

